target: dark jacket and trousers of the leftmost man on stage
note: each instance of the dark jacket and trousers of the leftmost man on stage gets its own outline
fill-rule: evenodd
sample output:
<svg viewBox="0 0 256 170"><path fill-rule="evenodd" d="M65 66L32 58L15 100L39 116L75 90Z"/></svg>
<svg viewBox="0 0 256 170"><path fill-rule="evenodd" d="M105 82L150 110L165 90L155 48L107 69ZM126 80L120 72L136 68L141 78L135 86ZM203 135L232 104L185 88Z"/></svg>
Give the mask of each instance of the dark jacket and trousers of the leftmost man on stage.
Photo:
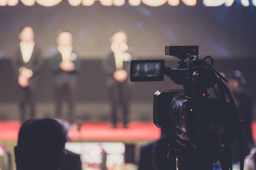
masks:
<svg viewBox="0 0 256 170"><path fill-rule="evenodd" d="M40 73L41 66L43 64L43 59L41 57L41 51L35 44L34 50L32 52L29 62L25 63L22 59L22 54L20 47L16 50L15 56L12 60L14 72L17 79L17 91L18 91L18 108L20 114L20 121L25 121L25 105L28 102L30 108L30 118L36 116L36 79ZM20 75L20 68L25 67L33 71L32 77L29 79L29 86L26 88L20 87L18 84L18 77Z"/></svg>

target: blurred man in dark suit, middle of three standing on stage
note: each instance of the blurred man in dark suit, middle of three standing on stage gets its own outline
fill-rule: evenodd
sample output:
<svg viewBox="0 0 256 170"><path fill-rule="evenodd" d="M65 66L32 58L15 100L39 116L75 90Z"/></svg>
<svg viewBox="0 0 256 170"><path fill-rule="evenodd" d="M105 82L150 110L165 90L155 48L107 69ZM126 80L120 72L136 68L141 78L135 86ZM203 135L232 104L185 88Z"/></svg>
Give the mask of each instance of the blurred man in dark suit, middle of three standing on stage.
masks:
<svg viewBox="0 0 256 170"><path fill-rule="evenodd" d="M68 118L70 124L75 121L75 90L77 75L80 69L78 54L73 49L73 36L70 31L58 33L58 52L51 58L51 68L54 75L55 118L63 119L63 98L67 95Z"/></svg>

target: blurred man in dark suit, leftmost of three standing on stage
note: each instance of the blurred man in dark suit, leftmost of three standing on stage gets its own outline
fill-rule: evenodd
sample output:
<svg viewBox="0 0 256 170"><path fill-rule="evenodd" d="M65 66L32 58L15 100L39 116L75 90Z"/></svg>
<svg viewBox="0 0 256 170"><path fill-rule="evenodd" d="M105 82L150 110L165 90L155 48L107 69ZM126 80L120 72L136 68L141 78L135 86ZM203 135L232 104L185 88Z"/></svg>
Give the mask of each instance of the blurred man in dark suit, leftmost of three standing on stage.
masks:
<svg viewBox="0 0 256 170"><path fill-rule="evenodd" d="M41 51L34 41L34 28L23 26L20 29L20 44L12 60L18 86L18 108L20 121L26 119L25 108L29 104L30 118L36 117L36 79L43 63Z"/></svg>

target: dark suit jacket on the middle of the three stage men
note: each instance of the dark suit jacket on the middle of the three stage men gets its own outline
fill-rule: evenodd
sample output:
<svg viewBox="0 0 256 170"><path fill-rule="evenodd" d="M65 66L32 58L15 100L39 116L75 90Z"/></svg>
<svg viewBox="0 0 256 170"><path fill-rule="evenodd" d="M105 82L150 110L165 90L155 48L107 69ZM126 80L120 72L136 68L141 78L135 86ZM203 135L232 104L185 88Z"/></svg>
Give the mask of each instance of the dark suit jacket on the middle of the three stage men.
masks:
<svg viewBox="0 0 256 170"><path fill-rule="evenodd" d="M67 79L73 79L76 77L76 75L78 74L79 69L80 69L80 60L79 60L77 53L72 52L72 54L70 56L70 61L72 61L74 63L75 70L72 72L67 72L67 71L61 70L61 68L59 67L60 63L62 62L61 53L58 52L52 57L50 64L51 64L51 68L52 68L52 73L55 78L63 79L63 77L64 77Z"/></svg>

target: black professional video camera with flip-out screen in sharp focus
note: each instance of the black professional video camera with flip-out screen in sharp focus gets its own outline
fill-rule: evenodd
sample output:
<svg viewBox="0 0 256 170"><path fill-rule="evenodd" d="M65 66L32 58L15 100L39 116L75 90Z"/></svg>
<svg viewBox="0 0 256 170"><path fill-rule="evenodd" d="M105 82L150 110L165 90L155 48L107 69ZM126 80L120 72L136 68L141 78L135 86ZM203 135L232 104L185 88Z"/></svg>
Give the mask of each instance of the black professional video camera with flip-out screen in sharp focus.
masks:
<svg viewBox="0 0 256 170"><path fill-rule="evenodd" d="M183 85L154 94L155 126L177 132L176 142L169 144L172 168L209 170L219 161L222 170L232 169L231 144L240 120L227 79L213 67L213 57L200 59L198 46L165 46L165 54L180 59L177 68L164 66L164 60L132 60L130 80L163 81L167 75Z"/></svg>

